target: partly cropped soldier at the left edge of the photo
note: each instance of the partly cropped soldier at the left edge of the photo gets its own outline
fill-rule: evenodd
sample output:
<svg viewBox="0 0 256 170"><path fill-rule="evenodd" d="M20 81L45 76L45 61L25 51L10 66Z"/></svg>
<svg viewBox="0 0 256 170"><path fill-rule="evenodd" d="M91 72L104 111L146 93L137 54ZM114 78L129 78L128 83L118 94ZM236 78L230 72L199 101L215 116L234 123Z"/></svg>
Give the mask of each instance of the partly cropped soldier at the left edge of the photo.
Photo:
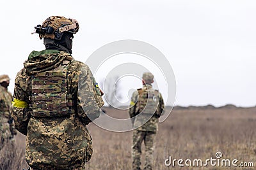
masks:
<svg viewBox="0 0 256 170"><path fill-rule="evenodd" d="M17 131L14 127L12 117L10 115L10 107L12 106L12 94L8 91L10 78L4 74L0 76L0 130L1 130L1 145L12 139Z"/></svg>

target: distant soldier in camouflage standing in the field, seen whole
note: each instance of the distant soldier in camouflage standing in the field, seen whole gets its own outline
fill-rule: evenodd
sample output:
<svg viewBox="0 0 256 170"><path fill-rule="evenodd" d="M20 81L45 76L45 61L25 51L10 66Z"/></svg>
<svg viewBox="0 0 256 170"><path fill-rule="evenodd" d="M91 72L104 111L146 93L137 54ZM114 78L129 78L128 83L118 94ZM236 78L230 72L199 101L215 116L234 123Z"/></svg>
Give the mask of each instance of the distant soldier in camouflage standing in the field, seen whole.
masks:
<svg viewBox="0 0 256 170"><path fill-rule="evenodd" d="M143 74L143 87L132 94L129 109L130 117L136 117L133 125L132 169L140 169L141 143L145 144L144 169L152 169L154 143L158 131L158 119L164 108L164 101L158 90L152 89L154 76L152 73ZM144 125L143 123L146 122Z"/></svg>

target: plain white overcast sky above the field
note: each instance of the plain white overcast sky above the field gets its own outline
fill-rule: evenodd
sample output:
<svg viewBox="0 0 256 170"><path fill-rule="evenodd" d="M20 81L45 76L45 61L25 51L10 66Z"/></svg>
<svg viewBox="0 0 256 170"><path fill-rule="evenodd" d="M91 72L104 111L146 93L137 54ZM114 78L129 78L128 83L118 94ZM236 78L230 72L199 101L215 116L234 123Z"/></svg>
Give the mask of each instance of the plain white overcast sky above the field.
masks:
<svg viewBox="0 0 256 170"><path fill-rule="evenodd" d="M1 1L0 6L0 74L12 78L11 92L29 53L44 50L38 34L30 34L33 27L62 15L79 22L72 48L77 60L85 62L113 41L145 41L172 65L176 105L255 106L256 1L45 0ZM166 95L164 87L159 90Z"/></svg>

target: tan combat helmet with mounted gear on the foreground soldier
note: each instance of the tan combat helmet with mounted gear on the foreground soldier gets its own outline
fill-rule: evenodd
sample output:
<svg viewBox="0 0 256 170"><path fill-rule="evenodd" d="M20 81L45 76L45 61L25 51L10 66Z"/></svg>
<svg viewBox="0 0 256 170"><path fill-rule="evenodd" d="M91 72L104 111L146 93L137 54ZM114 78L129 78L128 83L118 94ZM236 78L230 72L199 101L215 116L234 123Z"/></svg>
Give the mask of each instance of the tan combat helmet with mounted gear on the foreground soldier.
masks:
<svg viewBox="0 0 256 170"><path fill-rule="evenodd" d="M42 25L36 25L35 32L38 33L39 38L50 38L60 40L63 36L63 32L71 32L76 34L79 30L79 24L77 20L65 18L61 16L48 17Z"/></svg>

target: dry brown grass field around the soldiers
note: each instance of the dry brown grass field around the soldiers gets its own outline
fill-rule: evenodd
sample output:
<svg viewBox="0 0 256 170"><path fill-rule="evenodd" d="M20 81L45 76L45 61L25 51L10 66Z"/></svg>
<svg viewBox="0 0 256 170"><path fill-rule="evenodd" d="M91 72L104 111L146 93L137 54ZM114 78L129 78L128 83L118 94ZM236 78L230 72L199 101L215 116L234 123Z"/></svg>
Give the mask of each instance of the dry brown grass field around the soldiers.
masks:
<svg viewBox="0 0 256 170"><path fill-rule="evenodd" d="M106 108L108 115L128 117L127 111ZM176 107L159 125L154 169L256 169L256 108ZM93 138L93 157L87 169L131 169L132 132L109 132L94 124L88 126ZM25 137L19 134L17 146L8 145L0 151L0 169L28 167L24 161ZM253 167L175 167L165 166L164 160L172 159L237 159L253 162ZM143 153L144 148L143 148ZM143 159L142 164L143 164ZM204 163L204 162L203 162ZM184 164L184 162L183 162Z"/></svg>

